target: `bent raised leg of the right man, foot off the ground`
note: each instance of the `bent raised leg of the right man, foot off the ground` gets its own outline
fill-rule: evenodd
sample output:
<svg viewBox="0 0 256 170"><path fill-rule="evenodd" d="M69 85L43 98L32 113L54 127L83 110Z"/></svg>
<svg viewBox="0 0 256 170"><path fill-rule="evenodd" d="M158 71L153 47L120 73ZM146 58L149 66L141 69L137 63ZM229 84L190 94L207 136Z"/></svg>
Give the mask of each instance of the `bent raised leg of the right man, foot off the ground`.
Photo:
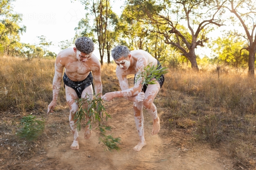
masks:
<svg viewBox="0 0 256 170"><path fill-rule="evenodd" d="M145 98L143 100L144 108L148 111L148 113L153 118L153 128L152 128L152 132L151 132L152 135L157 134L160 130L159 117L157 116L156 106L153 103L159 90L160 90L160 85L158 82L156 84L148 84L147 90L145 92Z"/></svg>

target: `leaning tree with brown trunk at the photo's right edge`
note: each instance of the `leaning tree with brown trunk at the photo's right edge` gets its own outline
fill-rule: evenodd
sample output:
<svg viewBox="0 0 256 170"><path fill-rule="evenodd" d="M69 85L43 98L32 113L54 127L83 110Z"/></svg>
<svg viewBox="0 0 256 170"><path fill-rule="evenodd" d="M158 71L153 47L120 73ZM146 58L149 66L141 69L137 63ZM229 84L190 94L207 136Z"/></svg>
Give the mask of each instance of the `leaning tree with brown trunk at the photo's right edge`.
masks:
<svg viewBox="0 0 256 170"><path fill-rule="evenodd" d="M254 75L254 62L256 53L256 3L255 0L228 0L224 5L231 13L234 14L243 27L244 33L240 35L247 40L247 46L242 48L249 51L249 75ZM231 17L236 22L234 16ZM241 49L241 50L242 50Z"/></svg>

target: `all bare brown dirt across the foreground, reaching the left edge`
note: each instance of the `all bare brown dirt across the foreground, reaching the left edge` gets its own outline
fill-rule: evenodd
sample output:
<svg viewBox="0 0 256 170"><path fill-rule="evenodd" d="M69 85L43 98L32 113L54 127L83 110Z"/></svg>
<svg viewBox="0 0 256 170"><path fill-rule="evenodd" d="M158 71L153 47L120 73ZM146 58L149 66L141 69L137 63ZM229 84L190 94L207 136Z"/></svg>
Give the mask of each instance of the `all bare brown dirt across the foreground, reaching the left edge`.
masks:
<svg viewBox="0 0 256 170"><path fill-rule="evenodd" d="M125 107L120 107L125 106ZM133 117L132 102L122 98L108 102L107 112L113 119L107 124L112 126L115 137L121 137L120 151L104 151L102 143L98 143L99 134L94 125L89 140L83 138L83 129L79 132L79 150L71 150L72 134L68 128L68 110L55 111L46 123L45 140L39 138L31 145L33 156L18 151L15 143L3 140L1 137L1 168L2 169L234 169L232 160L216 148L207 145L197 145L193 148L173 146L173 141L179 139L171 130L162 128L159 135L151 135L151 118L144 111L145 139L147 146L140 152L133 151L138 143L138 134ZM3 119L5 119L3 117ZM59 126L59 127L58 127ZM56 127L55 132L49 132ZM65 129L59 131L60 129ZM65 127L65 128L63 128ZM67 131L67 132L66 132ZM168 135L169 134L171 135ZM11 133L11 132L10 132ZM48 134L48 135L47 135ZM184 132L184 138L186 133ZM35 145L34 145L35 144ZM11 150L7 148L10 147ZM18 149L19 150L19 149ZM15 152L14 152L15 151ZM18 156L17 156L18 155Z"/></svg>

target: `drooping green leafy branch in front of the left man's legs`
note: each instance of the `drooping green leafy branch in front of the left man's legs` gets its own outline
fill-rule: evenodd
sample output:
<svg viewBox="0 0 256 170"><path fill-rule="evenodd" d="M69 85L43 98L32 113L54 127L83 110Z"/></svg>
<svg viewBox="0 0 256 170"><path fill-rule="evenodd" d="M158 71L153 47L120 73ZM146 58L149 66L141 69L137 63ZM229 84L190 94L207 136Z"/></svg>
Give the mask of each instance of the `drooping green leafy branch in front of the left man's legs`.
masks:
<svg viewBox="0 0 256 170"><path fill-rule="evenodd" d="M99 94L98 94L99 95ZM90 124L90 130L92 129L91 123L97 123L99 126L100 130L100 141L103 142L104 145L108 148L109 151L111 150L119 150L120 148L118 147L118 144L120 143L120 137L118 138L113 138L112 134L111 135L106 135L106 130L110 131L112 127L110 126L104 126L101 124L101 121L103 121L103 116L105 114L106 116L106 121L108 121L108 118L111 118L111 116L106 112L106 109L104 107L104 101L98 97L98 95L92 95L93 99L91 100L89 97L88 98L81 98L76 100L78 103L78 111L74 115L74 122L75 125L77 126L77 130L81 130L81 121L84 119L89 118L87 125ZM89 96L87 94L87 96ZM84 104L88 104L87 109L84 109ZM111 118L112 119L112 118Z"/></svg>

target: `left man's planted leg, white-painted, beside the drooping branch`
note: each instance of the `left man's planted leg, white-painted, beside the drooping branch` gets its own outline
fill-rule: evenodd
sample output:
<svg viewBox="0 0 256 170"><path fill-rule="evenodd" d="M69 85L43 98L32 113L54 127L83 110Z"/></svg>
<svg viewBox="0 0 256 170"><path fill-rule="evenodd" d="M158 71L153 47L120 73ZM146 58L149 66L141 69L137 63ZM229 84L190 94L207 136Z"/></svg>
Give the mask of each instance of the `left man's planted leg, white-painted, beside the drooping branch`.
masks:
<svg viewBox="0 0 256 170"><path fill-rule="evenodd" d="M72 130L72 134L74 137L73 143L70 146L71 149L78 150L79 149L79 138L78 138L78 131L77 127L75 125L76 122L74 122L74 114L78 110L78 105L76 103L76 99L78 99L78 96L76 94L76 91L68 86L65 86L66 91L66 99L68 102L70 114L69 114L69 124Z"/></svg>

